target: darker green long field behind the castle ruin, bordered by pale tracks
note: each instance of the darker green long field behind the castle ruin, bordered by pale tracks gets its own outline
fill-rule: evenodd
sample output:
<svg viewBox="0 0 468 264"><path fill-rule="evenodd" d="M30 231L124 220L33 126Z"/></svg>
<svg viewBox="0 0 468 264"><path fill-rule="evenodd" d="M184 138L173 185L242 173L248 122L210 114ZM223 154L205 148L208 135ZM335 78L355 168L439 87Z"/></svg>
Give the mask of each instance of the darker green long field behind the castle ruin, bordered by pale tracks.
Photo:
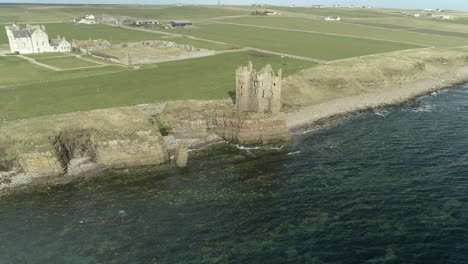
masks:
<svg viewBox="0 0 468 264"><path fill-rule="evenodd" d="M255 47L321 60L337 60L421 47L362 38L225 24L205 24L200 25L197 29L179 30L178 32L244 47Z"/></svg>

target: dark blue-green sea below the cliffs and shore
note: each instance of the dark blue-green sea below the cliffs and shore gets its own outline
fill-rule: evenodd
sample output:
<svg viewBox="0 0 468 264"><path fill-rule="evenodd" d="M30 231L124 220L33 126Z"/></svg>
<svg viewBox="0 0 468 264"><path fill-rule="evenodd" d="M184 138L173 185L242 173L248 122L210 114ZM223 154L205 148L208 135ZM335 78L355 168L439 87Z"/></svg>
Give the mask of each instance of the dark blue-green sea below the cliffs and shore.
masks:
<svg viewBox="0 0 468 264"><path fill-rule="evenodd" d="M0 263L468 263L468 85L2 198Z"/></svg>

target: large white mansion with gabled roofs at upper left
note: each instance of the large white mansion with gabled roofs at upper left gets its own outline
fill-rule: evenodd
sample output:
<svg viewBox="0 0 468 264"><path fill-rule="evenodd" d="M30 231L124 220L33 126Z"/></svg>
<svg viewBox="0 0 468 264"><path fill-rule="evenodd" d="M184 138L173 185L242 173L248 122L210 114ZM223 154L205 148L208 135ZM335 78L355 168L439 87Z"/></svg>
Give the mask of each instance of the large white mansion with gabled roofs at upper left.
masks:
<svg viewBox="0 0 468 264"><path fill-rule="evenodd" d="M44 25L18 25L5 27L11 53L30 54L43 52L69 52L71 45L60 36L49 39Z"/></svg>

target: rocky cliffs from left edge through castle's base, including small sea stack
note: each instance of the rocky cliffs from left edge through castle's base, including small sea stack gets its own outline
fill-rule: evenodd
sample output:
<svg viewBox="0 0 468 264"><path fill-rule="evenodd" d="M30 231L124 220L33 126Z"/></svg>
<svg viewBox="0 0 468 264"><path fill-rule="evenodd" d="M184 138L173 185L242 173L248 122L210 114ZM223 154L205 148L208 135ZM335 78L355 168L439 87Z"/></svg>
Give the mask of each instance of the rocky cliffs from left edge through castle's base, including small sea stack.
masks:
<svg viewBox="0 0 468 264"><path fill-rule="evenodd" d="M0 127L0 194L106 168L161 165L169 162L169 153L184 167L188 148L212 142L251 146L290 140L283 114L237 114L229 101L194 104L169 102L158 116L128 107L7 122ZM169 136L161 135L163 124Z"/></svg>

